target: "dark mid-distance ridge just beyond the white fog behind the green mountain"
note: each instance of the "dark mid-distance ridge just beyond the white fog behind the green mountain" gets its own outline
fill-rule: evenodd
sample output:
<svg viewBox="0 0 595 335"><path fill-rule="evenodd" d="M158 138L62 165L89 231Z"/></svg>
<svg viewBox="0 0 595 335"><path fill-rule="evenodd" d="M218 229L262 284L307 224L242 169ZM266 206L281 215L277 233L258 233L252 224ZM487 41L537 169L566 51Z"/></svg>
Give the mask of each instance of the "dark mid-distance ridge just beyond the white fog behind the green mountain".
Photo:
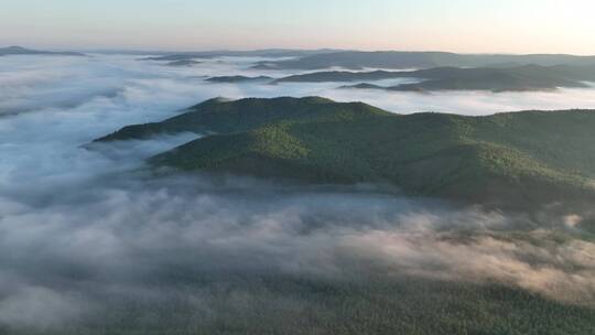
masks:
<svg viewBox="0 0 595 335"><path fill-rule="evenodd" d="M369 82L390 78L416 78L415 84L391 87L355 85L347 88L379 88L389 90L542 90L559 87L588 87L583 82L595 82L595 65L524 65L517 67L435 67L405 72L315 72L277 79L274 83Z"/></svg>

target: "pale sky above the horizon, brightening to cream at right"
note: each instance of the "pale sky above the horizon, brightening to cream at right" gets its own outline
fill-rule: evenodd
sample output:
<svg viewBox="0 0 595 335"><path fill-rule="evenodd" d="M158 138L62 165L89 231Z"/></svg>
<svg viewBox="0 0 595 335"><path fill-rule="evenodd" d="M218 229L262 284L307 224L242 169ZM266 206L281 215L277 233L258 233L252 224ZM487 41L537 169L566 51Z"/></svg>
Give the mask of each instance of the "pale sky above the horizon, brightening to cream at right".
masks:
<svg viewBox="0 0 595 335"><path fill-rule="evenodd" d="M0 45L595 54L594 0L0 0Z"/></svg>

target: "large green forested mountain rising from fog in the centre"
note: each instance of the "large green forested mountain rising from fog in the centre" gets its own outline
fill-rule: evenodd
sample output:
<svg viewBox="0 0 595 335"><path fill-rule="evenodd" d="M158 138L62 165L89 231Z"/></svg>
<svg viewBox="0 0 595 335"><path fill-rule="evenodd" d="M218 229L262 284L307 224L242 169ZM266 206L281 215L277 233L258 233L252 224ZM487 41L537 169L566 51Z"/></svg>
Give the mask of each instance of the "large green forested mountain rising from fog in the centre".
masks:
<svg viewBox="0 0 595 335"><path fill-rule="evenodd" d="M112 141L216 133L150 159L156 166L309 183L374 183L495 205L593 196L595 111L401 116L318 97L212 99Z"/></svg>

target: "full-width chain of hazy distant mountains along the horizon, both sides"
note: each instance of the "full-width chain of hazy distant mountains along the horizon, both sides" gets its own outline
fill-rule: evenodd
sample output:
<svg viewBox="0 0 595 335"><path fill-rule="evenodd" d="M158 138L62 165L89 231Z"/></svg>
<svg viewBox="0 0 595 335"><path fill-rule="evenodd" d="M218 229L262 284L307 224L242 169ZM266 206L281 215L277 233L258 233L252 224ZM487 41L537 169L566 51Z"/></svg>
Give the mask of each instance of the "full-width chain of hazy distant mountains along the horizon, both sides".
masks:
<svg viewBox="0 0 595 335"><path fill-rule="evenodd" d="M325 69L343 67L346 69L386 68L420 69L432 67L516 67L522 65L593 65L595 56L576 56L565 54L456 54L446 52L361 52L321 50L266 48L253 51L202 51L202 52L163 52L163 51L93 51L94 53L118 53L154 56L141 58L148 61L176 62L194 58L214 57L266 57L289 58L262 61L253 65L256 69ZM21 46L0 48L0 55L69 55L82 56L79 52L53 52L29 50Z"/></svg>

